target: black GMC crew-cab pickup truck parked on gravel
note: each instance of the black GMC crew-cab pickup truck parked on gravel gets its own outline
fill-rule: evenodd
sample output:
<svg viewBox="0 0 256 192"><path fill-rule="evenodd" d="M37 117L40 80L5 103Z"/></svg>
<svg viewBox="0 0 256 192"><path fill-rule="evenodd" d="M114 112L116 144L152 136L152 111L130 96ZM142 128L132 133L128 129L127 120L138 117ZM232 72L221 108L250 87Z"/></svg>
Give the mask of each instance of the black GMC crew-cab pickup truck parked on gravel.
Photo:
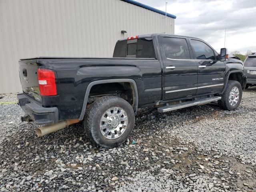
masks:
<svg viewBox="0 0 256 192"><path fill-rule="evenodd" d="M118 40L113 58L38 57L19 61L22 120L38 136L84 121L96 144L122 144L138 108L158 112L218 101L235 110L246 86L243 64L198 38L149 34Z"/></svg>

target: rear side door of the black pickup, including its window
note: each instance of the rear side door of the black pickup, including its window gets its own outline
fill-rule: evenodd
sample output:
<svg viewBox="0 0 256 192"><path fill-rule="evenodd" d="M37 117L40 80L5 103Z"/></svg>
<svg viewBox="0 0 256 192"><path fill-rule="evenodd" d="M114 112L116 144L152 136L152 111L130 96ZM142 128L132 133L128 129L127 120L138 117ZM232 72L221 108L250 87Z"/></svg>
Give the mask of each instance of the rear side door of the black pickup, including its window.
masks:
<svg viewBox="0 0 256 192"><path fill-rule="evenodd" d="M188 39L177 36L159 36L164 64L165 100L195 96L198 68L192 58Z"/></svg>

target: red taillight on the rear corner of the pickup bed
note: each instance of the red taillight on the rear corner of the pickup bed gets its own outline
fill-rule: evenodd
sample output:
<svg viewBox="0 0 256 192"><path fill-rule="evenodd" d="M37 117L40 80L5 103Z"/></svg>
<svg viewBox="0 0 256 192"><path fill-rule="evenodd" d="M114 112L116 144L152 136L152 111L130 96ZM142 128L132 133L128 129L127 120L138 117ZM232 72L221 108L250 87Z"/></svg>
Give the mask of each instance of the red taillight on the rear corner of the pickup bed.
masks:
<svg viewBox="0 0 256 192"><path fill-rule="evenodd" d="M54 71L38 68L37 76L41 96L57 95Z"/></svg>

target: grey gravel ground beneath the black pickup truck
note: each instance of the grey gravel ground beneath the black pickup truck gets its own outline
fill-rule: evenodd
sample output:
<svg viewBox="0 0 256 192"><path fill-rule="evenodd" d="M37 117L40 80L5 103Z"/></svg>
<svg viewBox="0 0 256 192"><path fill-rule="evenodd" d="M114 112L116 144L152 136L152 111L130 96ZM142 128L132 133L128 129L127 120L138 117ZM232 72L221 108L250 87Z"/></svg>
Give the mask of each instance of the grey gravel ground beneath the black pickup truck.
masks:
<svg viewBox="0 0 256 192"><path fill-rule="evenodd" d="M0 191L256 191L256 87L233 112L142 109L113 149L92 146L82 124L37 138L18 105L0 111Z"/></svg>

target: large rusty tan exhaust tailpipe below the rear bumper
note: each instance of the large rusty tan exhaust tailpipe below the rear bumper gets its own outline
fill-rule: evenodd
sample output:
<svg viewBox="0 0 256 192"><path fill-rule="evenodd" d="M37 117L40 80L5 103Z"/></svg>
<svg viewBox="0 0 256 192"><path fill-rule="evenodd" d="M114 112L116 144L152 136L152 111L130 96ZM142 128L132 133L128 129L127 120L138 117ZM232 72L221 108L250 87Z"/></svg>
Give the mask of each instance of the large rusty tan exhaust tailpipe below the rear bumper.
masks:
<svg viewBox="0 0 256 192"><path fill-rule="evenodd" d="M36 128L36 134L38 137L41 137L46 134L52 133L54 131L61 130L61 129L65 128L66 126L69 126L71 124L75 124L78 122L80 122L80 120L78 120L78 119L70 119L70 120L60 121L53 125L46 125L43 127Z"/></svg>

